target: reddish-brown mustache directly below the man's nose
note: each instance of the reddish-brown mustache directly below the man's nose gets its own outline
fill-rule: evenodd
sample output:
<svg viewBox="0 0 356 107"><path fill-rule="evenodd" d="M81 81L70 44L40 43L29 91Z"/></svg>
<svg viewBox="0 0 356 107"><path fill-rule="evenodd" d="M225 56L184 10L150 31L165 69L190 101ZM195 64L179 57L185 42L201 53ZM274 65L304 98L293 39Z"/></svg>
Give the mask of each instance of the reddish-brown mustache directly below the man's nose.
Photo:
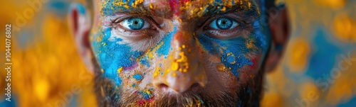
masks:
<svg viewBox="0 0 356 107"><path fill-rule="evenodd" d="M159 107L186 107L186 106L238 106L237 92L219 91L214 95L205 93L164 94L151 99L142 98L138 94L122 93L117 106L159 106Z"/></svg>

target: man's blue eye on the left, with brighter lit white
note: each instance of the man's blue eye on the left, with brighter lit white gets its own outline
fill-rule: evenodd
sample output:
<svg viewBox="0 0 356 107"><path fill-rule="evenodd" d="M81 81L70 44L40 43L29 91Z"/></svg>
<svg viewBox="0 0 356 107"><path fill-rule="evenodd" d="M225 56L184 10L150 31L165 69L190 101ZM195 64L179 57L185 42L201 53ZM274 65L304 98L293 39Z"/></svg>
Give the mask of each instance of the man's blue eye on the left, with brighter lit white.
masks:
<svg viewBox="0 0 356 107"><path fill-rule="evenodd" d="M150 27L150 23L147 23L147 21L142 18L127 18L121 21L120 25L130 30L141 30Z"/></svg>

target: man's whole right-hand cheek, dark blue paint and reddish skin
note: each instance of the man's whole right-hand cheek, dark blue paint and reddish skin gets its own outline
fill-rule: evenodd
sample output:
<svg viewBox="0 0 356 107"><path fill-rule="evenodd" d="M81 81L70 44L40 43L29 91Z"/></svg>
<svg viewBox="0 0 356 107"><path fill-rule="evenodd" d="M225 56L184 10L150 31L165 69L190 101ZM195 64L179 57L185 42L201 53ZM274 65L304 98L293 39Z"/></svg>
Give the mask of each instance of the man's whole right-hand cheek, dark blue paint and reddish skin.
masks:
<svg viewBox="0 0 356 107"><path fill-rule="evenodd" d="M240 36L229 40L217 40L201 35L198 40L206 52L204 57L213 62L211 69L226 72L241 81L254 77L263 62L266 53L266 36L263 33L251 32L248 36Z"/></svg>

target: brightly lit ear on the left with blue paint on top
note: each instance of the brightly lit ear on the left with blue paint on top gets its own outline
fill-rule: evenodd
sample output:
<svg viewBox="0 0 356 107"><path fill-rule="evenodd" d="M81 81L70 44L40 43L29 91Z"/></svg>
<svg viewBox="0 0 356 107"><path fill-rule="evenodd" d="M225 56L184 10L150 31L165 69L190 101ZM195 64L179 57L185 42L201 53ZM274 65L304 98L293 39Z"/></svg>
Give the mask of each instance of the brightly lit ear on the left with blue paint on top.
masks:
<svg viewBox="0 0 356 107"><path fill-rule="evenodd" d="M86 12L85 7L78 3L70 4L68 12L68 26L70 32L73 35L81 59L90 72L93 72L93 55L89 43L90 25L90 15Z"/></svg>

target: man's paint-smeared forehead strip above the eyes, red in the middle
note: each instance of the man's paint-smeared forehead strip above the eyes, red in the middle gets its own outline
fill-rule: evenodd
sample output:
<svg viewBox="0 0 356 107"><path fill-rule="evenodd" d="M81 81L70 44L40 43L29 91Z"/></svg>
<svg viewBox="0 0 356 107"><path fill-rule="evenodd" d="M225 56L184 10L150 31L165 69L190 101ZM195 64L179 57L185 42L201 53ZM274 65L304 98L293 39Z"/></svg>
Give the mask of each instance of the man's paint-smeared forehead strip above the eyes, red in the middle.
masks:
<svg viewBox="0 0 356 107"><path fill-rule="evenodd" d="M95 0L102 16L120 13L172 18L194 18L211 14L258 11L255 0Z"/></svg>

